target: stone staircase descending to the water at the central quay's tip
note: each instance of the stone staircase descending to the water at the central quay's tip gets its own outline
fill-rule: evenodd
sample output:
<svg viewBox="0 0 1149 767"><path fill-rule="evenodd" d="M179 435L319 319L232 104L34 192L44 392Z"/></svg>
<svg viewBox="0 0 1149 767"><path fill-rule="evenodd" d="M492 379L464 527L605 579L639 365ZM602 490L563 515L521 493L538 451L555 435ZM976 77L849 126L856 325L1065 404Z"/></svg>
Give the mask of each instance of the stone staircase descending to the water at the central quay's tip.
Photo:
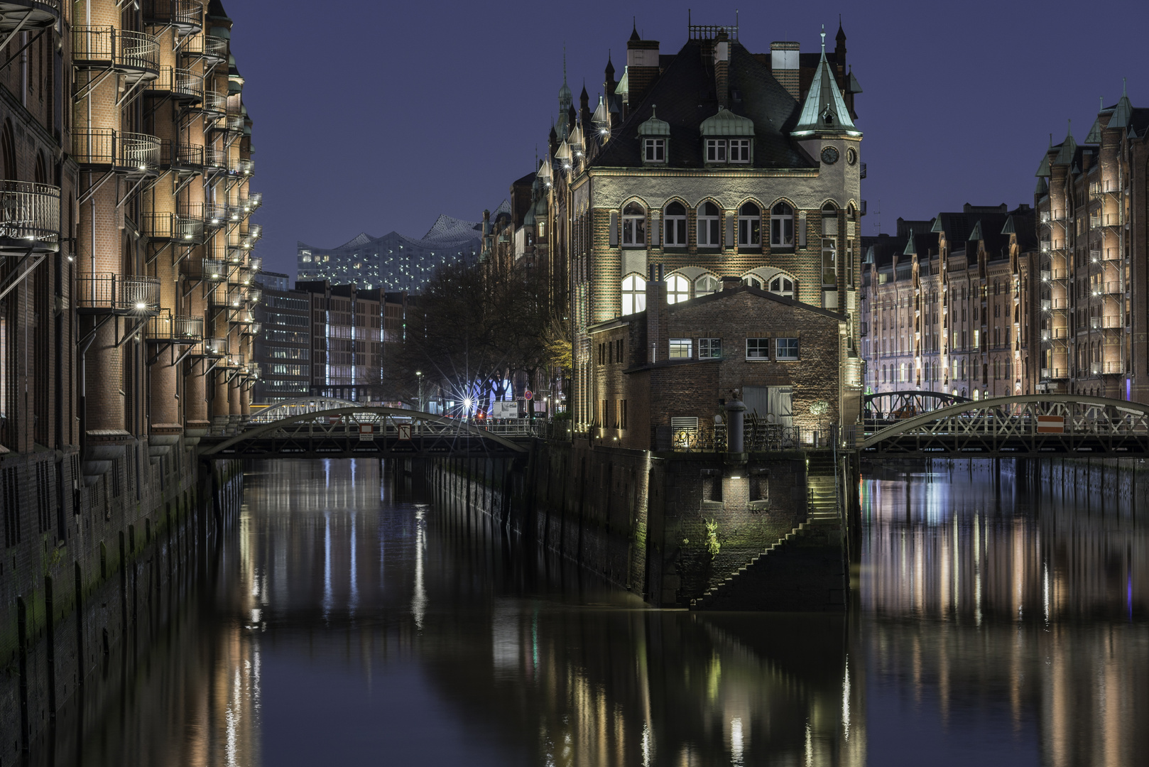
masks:
<svg viewBox="0 0 1149 767"><path fill-rule="evenodd" d="M849 576L828 451L811 453L807 490L807 521L692 600L691 609L846 609Z"/></svg>

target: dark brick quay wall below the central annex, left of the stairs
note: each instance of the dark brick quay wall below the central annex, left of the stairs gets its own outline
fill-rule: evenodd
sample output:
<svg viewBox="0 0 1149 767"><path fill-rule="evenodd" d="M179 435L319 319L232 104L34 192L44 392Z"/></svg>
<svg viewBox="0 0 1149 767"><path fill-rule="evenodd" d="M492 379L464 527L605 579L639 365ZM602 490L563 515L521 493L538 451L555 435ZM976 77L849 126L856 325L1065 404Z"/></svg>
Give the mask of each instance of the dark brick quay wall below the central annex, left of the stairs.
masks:
<svg viewBox="0 0 1149 767"><path fill-rule="evenodd" d="M514 460L406 465L445 513L494 524L651 605L688 607L807 519L807 459L537 439Z"/></svg>

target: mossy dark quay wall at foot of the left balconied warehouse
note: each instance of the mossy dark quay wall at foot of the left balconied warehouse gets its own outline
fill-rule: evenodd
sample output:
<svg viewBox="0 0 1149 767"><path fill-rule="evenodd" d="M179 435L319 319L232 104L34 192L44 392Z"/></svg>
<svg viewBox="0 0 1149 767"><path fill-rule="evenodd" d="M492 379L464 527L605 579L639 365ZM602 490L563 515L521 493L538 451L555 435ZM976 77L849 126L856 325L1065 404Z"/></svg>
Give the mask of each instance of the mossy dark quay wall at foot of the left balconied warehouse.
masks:
<svg viewBox="0 0 1149 767"><path fill-rule="evenodd" d="M110 658L146 651L239 508L240 465L206 469L191 440L139 439L92 484L80 471L75 451L0 457L0 765L103 684Z"/></svg>

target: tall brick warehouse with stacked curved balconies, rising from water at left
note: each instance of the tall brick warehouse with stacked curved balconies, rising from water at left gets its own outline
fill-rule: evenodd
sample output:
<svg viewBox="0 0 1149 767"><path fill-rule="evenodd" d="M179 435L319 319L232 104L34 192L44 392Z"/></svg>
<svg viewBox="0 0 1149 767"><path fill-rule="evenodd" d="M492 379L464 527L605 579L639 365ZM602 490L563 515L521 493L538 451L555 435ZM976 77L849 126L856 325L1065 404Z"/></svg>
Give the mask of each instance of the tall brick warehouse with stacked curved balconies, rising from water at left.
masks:
<svg viewBox="0 0 1149 767"><path fill-rule="evenodd" d="M134 595L153 532L186 519L192 446L246 413L260 197L217 0L15 1L0 32L0 658L28 661L0 690L0 760L15 764L102 637L131 630L106 590L130 572Z"/></svg>

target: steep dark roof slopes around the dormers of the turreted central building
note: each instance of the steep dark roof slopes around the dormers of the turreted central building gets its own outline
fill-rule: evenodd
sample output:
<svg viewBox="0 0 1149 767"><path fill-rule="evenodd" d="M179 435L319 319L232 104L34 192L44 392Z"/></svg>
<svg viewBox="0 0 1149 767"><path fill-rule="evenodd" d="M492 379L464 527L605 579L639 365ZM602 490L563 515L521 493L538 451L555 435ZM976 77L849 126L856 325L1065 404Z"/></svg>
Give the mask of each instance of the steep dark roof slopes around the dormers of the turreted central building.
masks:
<svg viewBox="0 0 1149 767"><path fill-rule="evenodd" d="M796 124L799 102L778 84L770 69L739 43L730 44L730 89L740 98L732 100L731 112L754 121L754 167L815 168L817 163L792 140L788 131ZM688 40L655 80L646 98L592 161L599 168L638 168L642 166L638 126L650 118L651 105L658 118L670 124L668 164L701 168L703 147L702 121L718 113L714 69L702 55L699 40Z"/></svg>

